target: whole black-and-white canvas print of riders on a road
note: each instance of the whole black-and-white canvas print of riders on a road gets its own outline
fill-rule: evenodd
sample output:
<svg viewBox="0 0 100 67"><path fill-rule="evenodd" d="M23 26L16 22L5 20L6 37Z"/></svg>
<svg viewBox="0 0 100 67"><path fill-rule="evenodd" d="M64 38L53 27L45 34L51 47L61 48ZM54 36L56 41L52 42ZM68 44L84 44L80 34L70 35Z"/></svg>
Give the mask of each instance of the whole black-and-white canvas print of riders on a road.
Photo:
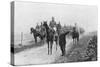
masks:
<svg viewBox="0 0 100 67"><path fill-rule="evenodd" d="M11 64L97 61L97 6L11 2Z"/></svg>

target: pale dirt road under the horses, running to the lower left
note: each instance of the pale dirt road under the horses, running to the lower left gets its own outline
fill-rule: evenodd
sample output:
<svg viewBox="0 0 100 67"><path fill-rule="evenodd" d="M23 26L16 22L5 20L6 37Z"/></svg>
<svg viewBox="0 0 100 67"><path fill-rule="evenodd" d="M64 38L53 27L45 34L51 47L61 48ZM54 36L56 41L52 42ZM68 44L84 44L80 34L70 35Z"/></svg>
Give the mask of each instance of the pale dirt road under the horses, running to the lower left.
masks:
<svg viewBox="0 0 100 67"><path fill-rule="evenodd" d="M66 40L66 51L70 47L71 40ZM61 55L60 48L56 51L55 42L53 44L53 54L48 55L47 53L47 43L38 48L31 48L20 53L16 53L15 56L15 65L32 65L32 64L50 64L53 63Z"/></svg>

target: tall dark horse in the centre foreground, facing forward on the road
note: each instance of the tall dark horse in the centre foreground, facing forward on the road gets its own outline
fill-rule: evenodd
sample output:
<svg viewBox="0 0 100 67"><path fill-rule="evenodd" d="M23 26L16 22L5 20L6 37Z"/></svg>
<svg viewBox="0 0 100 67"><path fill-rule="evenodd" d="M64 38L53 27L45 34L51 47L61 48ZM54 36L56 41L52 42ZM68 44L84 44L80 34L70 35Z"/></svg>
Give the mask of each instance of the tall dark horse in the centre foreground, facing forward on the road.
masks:
<svg viewBox="0 0 100 67"><path fill-rule="evenodd" d="M44 21L43 26L46 29L46 42L48 43L48 55L49 55L49 52L50 54L52 54L54 30L49 28L49 26L47 25L47 21Z"/></svg>

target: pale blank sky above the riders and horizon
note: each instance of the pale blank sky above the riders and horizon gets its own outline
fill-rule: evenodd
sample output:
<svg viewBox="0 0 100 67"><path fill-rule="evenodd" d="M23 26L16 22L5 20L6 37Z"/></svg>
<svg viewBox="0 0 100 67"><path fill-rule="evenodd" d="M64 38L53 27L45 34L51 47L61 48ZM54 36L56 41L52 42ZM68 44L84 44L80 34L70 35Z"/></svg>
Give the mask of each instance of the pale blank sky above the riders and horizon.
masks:
<svg viewBox="0 0 100 67"><path fill-rule="evenodd" d="M15 34L30 33L30 27L37 23L51 20L60 21L61 25L83 27L86 31L95 31L98 27L98 9L96 6L50 4L33 2L15 2L14 26Z"/></svg>

